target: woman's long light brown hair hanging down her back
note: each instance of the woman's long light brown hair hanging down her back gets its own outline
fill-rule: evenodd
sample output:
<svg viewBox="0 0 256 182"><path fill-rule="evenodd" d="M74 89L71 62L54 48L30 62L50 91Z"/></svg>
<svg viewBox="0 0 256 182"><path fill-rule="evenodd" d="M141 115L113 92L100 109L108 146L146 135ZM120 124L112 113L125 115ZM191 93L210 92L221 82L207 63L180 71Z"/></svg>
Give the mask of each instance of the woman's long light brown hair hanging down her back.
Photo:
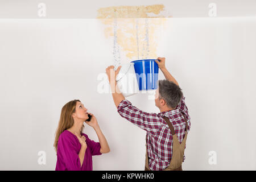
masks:
<svg viewBox="0 0 256 182"><path fill-rule="evenodd" d="M70 129L74 124L72 113L75 113L76 111L77 101L81 102L80 100L69 101L61 109L59 126L57 127L57 130L55 133L55 141L53 144L53 147L55 147L56 153L57 153L57 146L58 146L60 134L63 133L64 130ZM84 129L84 125L82 125L82 129Z"/></svg>

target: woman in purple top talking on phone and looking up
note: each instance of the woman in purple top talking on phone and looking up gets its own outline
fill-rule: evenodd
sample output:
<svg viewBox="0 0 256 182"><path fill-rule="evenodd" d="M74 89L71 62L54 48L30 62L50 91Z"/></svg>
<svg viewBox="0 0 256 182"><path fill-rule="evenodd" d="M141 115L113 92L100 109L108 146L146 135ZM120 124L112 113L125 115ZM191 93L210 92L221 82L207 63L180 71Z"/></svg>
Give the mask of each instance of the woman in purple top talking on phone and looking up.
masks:
<svg viewBox="0 0 256 182"><path fill-rule="evenodd" d="M62 107L53 145L57 152L56 171L92 171L92 156L110 151L94 115L90 114L92 118L86 121L88 114L79 100L70 101ZM93 127L100 142L94 142L82 133L84 122Z"/></svg>

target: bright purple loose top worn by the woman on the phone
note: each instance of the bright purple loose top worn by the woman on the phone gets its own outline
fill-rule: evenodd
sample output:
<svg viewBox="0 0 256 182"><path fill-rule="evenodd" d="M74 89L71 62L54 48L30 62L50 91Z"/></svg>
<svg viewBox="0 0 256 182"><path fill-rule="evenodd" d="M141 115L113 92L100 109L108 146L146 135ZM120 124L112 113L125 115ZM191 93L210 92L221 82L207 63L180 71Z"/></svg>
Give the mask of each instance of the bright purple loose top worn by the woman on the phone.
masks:
<svg viewBox="0 0 256 182"><path fill-rule="evenodd" d="M90 140L86 134L81 134L85 136L87 144L82 167L79 159L81 144L76 135L64 130L58 141L55 171L92 171L92 156L101 155L101 146L99 142Z"/></svg>

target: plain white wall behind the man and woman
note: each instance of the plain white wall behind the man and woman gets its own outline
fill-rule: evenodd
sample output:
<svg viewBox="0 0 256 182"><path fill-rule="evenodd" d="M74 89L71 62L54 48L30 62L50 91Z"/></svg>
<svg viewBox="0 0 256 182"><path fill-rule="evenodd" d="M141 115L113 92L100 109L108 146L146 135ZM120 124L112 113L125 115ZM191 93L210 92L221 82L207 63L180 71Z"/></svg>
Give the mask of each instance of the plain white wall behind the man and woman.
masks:
<svg viewBox="0 0 256 182"><path fill-rule="evenodd" d="M256 169L255 31L256 18L167 20L157 49L191 115L185 170ZM94 170L143 170L146 133L119 116L110 93L97 92L97 76L113 64L113 40L100 21L1 19L0 40L1 170L54 170L60 110L73 99L96 115L111 147L93 158ZM147 94L128 99L158 112ZM84 133L97 140L89 126ZM46 165L38 164L39 151ZM217 152L216 165L209 151Z"/></svg>

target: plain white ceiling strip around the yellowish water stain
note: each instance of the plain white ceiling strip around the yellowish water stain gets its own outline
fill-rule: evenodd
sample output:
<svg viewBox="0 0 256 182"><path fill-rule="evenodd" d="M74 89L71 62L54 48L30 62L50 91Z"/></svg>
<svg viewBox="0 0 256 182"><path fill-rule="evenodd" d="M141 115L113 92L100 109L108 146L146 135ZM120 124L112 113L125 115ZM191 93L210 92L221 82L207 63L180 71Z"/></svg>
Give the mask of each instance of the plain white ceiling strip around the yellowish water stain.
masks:
<svg viewBox="0 0 256 182"><path fill-rule="evenodd" d="M96 18L97 10L109 6L162 4L167 16L206 17L209 4L216 3L217 16L255 16L255 0L0 0L0 18L40 18L39 3L46 4L43 18Z"/></svg>

